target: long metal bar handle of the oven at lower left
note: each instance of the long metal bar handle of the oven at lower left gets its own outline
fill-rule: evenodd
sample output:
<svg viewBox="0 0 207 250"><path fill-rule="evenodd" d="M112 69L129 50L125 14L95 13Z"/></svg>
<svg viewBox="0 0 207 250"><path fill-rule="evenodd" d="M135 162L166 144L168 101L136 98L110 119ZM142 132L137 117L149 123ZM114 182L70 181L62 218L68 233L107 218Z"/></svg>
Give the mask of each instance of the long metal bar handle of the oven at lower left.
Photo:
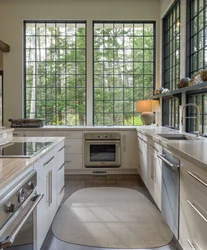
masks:
<svg viewBox="0 0 207 250"><path fill-rule="evenodd" d="M37 207L38 203L42 200L43 197L44 197L44 194L39 194L39 195L35 195L34 197L32 197L31 200L34 201L34 204L29 208L29 210L23 216L21 221L18 223L18 225L13 230L13 232L8 237L6 237L5 240L0 242L0 249L1 248L3 248L3 249L7 248L7 247L9 247L10 245L12 245L14 243L15 238L18 235L19 231L21 230L22 226L24 225L26 220L29 218L29 216L32 214L32 212Z"/></svg>

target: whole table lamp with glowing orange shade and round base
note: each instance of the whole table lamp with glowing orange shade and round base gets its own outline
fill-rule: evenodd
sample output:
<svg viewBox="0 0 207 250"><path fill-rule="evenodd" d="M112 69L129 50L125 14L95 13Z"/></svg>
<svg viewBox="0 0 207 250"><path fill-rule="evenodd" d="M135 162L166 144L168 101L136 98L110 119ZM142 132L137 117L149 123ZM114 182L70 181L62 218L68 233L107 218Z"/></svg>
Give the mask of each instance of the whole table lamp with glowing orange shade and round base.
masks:
<svg viewBox="0 0 207 250"><path fill-rule="evenodd" d="M144 125L151 125L155 120L153 112L160 110L160 104L158 100L139 100L137 101L137 112L142 112L141 120Z"/></svg>

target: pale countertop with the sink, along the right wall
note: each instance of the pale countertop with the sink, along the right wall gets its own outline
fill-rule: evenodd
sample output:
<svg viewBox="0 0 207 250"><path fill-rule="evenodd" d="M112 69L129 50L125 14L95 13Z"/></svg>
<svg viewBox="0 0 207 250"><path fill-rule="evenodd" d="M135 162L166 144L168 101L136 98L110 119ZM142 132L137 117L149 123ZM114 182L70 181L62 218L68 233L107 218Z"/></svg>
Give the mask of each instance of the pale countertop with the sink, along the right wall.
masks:
<svg viewBox="0 0 207 250"><path fill-rule="evenodd" d="M207 139L204 137L196 138L189 133L180 133L177 130L164 127L137 128L137 131L161 144L163 147L192 162L198 167L207 171ZM185 134L190 140L168 140L159 134Z"/></svg>

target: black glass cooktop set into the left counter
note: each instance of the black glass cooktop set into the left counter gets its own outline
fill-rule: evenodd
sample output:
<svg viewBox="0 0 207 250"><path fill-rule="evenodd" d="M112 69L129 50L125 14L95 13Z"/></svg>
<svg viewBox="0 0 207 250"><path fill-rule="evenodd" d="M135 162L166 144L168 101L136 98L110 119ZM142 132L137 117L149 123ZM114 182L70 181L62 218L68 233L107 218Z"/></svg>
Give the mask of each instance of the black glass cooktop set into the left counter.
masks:
<svg viewBox="0 0 207 250"><path fill-rule="evenodd" d="M52 142L14 142L0 146L0 158L31 158Z"/></svg>

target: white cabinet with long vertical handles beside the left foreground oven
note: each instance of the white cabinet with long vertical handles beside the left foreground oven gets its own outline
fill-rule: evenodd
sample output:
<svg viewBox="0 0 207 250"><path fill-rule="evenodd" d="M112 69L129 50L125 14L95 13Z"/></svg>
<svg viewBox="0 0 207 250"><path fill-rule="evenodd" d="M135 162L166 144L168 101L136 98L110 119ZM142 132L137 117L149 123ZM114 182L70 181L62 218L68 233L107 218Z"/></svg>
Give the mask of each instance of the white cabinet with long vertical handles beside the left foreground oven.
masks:
<svg viewBox="0 0 207 250"><path fill-rule="evenodd" d="M64 195L64 142L34 164L37 192L44 193L36 209L36 247L39 250Z"/></svg>

